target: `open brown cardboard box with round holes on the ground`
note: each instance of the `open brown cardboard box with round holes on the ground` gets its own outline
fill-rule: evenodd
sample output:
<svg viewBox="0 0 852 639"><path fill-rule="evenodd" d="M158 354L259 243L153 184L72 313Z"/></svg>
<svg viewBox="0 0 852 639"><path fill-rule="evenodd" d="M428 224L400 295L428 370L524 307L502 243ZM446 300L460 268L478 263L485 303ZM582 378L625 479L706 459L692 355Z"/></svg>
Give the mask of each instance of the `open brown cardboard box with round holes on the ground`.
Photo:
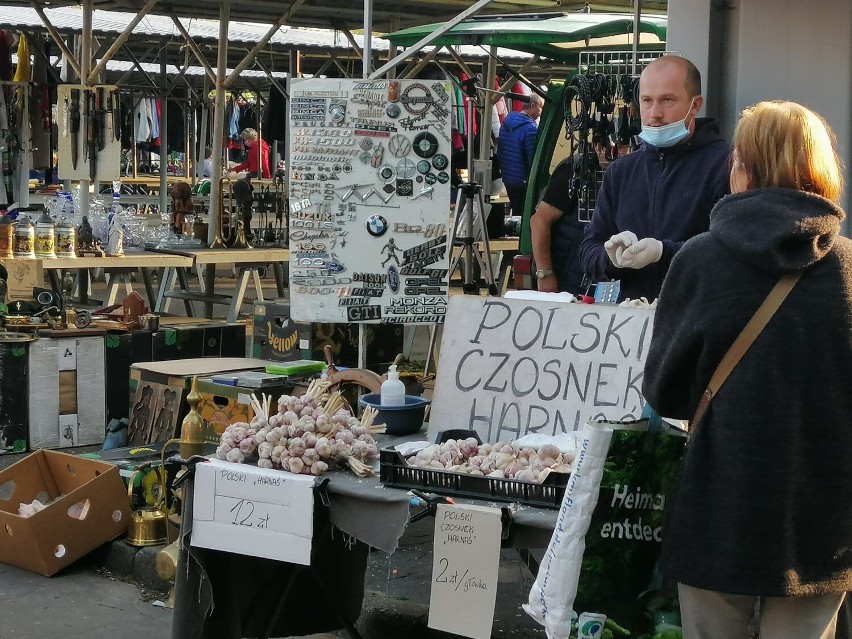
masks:
<svg viewBox="0 0 852 639"><path fill-rule="evenodd" d="M0 489L0 562L46 577L121 535L130 522L124 482L105 462L39 450L0 471L3 487L11 494ZM47 507L18 515L20 504L36 499Z"/></svg>

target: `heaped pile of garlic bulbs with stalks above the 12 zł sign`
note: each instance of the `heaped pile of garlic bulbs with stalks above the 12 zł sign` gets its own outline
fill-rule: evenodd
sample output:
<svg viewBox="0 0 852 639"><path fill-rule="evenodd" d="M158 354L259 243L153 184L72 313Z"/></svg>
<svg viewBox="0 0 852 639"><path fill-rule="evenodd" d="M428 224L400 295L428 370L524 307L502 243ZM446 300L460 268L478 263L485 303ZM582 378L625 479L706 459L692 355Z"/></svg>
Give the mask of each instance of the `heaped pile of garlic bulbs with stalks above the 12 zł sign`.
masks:
<svg viewBox="0 0 852 639"><path fill-rule="evenodd" d="M359 477L372 475L372 463L365 463L379 455L372 434L384 432L372 423L377 411L368 406L359 420L340 393L326 394L328 382L314 382L304 395L282 395L271 416L271 398L252 396L254 417L225 429L216 456L303 475L322 475L338 466L348 466Z"/></svg>

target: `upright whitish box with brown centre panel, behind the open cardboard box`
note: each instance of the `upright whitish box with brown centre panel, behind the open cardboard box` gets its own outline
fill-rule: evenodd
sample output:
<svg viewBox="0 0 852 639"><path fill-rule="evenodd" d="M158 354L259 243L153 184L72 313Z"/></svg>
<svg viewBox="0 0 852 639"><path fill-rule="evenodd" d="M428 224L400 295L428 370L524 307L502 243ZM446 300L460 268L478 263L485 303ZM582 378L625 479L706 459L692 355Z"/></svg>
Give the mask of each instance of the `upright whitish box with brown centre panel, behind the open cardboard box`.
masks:
<svg viewBox="0 0 852 639"><path fill-rule="evenodd" d="M29 348L30 448L102 443L105 388L104 331L42 331Z"/></svg>

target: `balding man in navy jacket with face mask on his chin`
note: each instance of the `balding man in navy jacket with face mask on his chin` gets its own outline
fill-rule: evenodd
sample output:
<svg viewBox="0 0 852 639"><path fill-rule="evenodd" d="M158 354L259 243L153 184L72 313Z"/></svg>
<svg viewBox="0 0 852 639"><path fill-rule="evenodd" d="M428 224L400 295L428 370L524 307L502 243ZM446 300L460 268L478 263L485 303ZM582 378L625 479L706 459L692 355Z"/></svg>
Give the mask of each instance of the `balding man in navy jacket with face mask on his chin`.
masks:
<svg viewBox="0 0 852 639"><path fill-rule="evenodd" d="M697 118L701 74L666 55L639 78L644 144L610 164L580 246L595 281L621 280L619 300L655 299L672 257L708 230L710 210L729 191L729 148L715 118Z"/></svg>

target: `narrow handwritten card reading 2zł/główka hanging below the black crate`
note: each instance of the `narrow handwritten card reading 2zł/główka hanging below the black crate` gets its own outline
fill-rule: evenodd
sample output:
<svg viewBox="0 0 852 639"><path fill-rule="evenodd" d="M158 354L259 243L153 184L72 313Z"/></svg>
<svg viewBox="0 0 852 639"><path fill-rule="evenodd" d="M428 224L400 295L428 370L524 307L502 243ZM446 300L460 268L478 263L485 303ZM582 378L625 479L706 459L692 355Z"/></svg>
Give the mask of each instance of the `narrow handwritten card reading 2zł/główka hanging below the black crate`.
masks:
<svg viewBox="0 0 852 639"><path fill-rule="evenodd" d="M489 639L500 567L500 511L441 504L435 515L429 627Z"/></svg>

